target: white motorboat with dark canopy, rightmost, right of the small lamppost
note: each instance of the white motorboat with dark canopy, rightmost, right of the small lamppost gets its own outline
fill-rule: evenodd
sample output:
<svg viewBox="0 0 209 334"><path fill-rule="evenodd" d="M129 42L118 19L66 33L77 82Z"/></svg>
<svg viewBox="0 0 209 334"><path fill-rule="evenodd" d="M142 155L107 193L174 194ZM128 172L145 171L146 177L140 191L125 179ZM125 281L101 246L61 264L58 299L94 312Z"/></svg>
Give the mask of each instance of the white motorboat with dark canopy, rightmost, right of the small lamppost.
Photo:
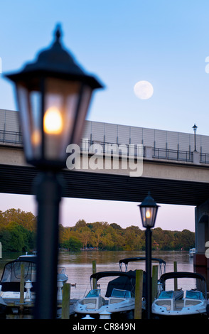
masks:
<svg viewBox="0 0 209 334"><path fill-rule="evenodd" d="M195 289L178 291L166 291L166 280L168 279L195 279ZM162 290L152 303L152 313L156 318L165 316L200 316L206 314L207 288L205 278L198 273L171 272L161 276Z"/></svg>

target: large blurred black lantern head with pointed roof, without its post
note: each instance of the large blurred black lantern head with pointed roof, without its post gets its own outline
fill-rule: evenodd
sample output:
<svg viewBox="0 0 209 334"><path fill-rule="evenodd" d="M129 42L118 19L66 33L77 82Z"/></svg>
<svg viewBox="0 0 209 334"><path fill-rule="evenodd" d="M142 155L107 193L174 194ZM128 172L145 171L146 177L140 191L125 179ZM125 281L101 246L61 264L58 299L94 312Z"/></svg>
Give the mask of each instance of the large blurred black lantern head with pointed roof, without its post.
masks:
<svg viewBox="0 0 209 334"><path fill-rule="evenodd" d="M33 63L6 74L16 86L26 161L38 168L66 166L66 148L80 144L92 92L102 88L63 48L60 26Z"/></svg>

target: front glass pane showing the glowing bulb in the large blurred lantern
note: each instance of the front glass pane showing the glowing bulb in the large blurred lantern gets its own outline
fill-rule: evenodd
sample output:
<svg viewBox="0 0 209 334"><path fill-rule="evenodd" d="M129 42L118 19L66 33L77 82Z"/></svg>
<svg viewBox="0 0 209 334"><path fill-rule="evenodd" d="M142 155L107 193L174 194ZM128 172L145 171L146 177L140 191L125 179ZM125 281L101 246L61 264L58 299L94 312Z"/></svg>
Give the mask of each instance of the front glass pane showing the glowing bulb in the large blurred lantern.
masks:
<svg viewBox="0 0 209 334"><path fill-rule="evenodd" d="M63 160L75 124L80 82L45 80L43 115L44 158Z"/></svg>

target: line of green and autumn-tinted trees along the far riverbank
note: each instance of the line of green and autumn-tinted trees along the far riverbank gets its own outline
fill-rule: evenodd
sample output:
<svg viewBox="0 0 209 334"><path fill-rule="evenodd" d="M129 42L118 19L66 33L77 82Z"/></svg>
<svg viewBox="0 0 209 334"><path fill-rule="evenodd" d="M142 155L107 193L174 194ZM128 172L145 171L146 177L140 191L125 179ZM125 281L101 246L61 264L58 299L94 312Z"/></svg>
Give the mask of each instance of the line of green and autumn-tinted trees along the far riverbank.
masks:
<svg viewBox="0 0 209 334"><path fill-rule="evenodd" d="M145 250L145 233L138 226L122 228L116 223L78 220L73 227L59 225L59 247L71 252L80 249ZM36 217L20 209L0 211L2 250L28 252L36 249ZM195 233L189 230L152 230L152 249L188 250L195 247Z"/></svg>

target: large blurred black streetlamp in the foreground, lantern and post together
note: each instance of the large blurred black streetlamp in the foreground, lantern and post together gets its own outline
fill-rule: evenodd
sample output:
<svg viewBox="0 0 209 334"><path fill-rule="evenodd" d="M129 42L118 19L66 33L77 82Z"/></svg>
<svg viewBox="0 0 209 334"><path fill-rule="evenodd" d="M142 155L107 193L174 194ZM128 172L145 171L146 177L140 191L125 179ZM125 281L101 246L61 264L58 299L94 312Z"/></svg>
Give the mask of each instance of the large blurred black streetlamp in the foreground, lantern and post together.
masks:
<svg viewBox="0 0 209 334"><path fill-rule="evenodd" d="M92 92L100 82L87 75L63 48L60 26L52 45L23 70L6 74L16 85L26 161L41 171L38 202L35 318L52 319L57 309L58 222L66 147L79 144Z"/></svg>

